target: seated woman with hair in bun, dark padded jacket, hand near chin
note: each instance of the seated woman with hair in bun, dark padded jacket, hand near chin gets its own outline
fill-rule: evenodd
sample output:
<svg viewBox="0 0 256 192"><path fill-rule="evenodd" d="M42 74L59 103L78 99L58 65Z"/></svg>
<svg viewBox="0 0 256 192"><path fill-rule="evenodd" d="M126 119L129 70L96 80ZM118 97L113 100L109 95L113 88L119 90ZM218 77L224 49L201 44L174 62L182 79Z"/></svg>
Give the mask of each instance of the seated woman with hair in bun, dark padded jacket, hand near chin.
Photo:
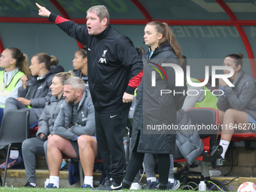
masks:
<svg viewBox="0 0 256 192"><path fill-rule="evenodd" d="M29 125L37 121L44 110L45 102L51 97L50 84L53 77L58 72L64 72L62 66L56 66L59 60L56 56L49 56L47 53L37 53L31 59L29 66L31 76L23 75L20 79L23 86L18 89L17 99L9 97L5 101L5 111L12 109L29 110ZM4 112L5 112L4 111ZM22 158L18 151L11 151L8 160L8 168L22 163ZM5 169L5 163L0 165L0 169Z"/></svg>

